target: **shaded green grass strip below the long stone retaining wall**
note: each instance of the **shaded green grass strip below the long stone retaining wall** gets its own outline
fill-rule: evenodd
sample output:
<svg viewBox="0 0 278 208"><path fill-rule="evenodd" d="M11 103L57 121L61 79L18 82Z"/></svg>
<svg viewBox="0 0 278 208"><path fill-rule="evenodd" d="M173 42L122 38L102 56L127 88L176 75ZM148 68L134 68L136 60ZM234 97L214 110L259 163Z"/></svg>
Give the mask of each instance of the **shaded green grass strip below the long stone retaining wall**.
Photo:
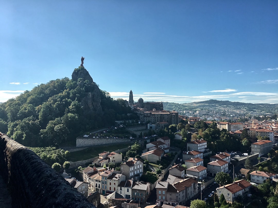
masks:
<svg viewBox="0 0 278 208"><path fill-rule="evenodd" d="M132 145L131 143L121 143L121 144L107 144L107 145L98 145L95 147L90 147L84 150L71 152L68 161L76 162L76 161L82 161L82 160L94 158L103 151L113 152L118 149L123 149L131 145Z"/></svg>

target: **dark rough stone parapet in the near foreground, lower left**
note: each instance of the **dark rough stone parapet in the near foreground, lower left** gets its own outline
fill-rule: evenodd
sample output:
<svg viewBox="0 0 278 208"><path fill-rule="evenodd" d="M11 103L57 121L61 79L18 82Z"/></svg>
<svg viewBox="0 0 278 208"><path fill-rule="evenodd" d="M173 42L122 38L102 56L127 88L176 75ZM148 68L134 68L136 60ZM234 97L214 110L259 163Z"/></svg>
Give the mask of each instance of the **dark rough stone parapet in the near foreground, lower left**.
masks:
<svg viewBox="0 0 278 208"><path fill-rule="evenodd" d="M33 151L1 133L0 167L12 207L95 208Z"/></svg>

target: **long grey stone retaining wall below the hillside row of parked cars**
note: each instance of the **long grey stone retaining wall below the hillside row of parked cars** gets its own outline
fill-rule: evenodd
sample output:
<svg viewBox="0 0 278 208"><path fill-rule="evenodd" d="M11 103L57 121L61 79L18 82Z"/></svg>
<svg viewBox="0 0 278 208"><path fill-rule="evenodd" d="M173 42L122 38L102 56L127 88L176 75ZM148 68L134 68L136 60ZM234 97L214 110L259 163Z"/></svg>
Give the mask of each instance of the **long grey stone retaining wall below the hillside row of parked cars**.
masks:
<svg viewBox="0 0 278 208"><path fill-rule="evenodd" d="M129 142L130 139L107 139L107 138L76 138L76 147L95 146L103 144L115 144Z"/></svg>

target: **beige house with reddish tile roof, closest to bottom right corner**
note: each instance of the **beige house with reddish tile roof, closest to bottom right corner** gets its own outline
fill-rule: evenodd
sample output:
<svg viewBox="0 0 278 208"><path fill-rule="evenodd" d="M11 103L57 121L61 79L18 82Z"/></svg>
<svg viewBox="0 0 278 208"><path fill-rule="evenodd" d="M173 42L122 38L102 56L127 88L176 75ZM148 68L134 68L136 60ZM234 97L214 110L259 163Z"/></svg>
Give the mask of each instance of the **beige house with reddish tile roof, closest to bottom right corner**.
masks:
<svg viewBox="0 0 278 208"><path fill-rule="evenodd" d="M252 184L242 179L217 188L216 194L218 197L223 194L227 202L233 203L236 197L248 194L251 186Z"/></svg>

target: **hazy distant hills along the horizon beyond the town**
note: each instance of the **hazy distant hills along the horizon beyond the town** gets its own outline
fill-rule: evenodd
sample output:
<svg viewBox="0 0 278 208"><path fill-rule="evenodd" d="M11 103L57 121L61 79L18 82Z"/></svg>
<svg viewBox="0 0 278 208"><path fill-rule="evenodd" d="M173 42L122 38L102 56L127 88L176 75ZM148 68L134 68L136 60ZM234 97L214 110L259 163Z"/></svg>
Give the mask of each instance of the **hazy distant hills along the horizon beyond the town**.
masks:
<svg viewBox="0 0 278 208"><path fill-rule="evenodd" d="M196 111L206 110L213 108L221 108L231 106L233 109L245 109L247 111L260 111L262 113L278 113L278 104L268 103L241 103L230 102L228 100L206 100L192 103L169 103L163 102L164 110L176 110L176 111Z"/></svg>

